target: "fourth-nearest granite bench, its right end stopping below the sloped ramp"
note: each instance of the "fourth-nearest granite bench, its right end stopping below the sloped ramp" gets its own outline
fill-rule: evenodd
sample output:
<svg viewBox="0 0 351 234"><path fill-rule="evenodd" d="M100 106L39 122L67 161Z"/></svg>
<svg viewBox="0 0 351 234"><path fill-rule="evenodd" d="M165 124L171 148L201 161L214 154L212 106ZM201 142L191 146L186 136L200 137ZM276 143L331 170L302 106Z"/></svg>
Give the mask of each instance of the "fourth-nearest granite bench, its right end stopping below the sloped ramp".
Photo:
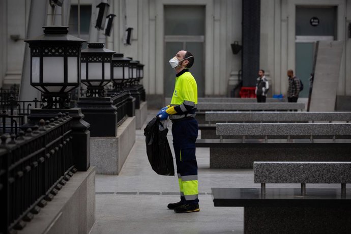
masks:
<svg viewBox="0 0 351 234"><path fill-rule="evenodd" d="M304 103L271 102L271 103L229 103L229 102L199 102L197 104L196 120L206 124L206 111L291 111L304 110Z"/></svg>

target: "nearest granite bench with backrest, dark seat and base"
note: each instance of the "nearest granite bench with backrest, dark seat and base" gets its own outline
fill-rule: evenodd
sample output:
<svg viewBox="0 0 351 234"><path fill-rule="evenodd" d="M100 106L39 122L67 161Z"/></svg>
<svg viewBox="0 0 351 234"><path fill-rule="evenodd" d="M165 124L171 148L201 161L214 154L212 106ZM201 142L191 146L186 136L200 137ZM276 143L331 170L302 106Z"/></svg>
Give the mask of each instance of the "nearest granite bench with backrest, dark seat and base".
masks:
<svg viewBox="0 0 351 234"><path fill-rule="evenodd" d="M244 207L244 233L350 233L351 162L255 162L254 182L261 189L212 188L215 207ZM306 183L341 183L342 190L306 189Z"/></svg>

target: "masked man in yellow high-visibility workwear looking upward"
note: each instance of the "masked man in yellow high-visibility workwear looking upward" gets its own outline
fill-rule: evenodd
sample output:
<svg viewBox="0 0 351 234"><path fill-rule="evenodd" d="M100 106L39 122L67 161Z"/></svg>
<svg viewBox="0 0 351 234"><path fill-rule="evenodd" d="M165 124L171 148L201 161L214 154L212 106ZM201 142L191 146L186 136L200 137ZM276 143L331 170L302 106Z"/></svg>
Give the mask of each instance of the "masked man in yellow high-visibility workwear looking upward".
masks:
<svg viewBox="0 0 351 234"><path fill-rule="evenodd" d="M168 209L176 213L197 212L199 209L197 162L195 141L198 126L195 119L197 105L197 85L189 68L194 64L194 56L181 50L169 60L170 66L176 70L170 105L162 108L157 114L160 120L168 118L172 121L173 147L176 154L178 182L181 200L169 203Z"/></svg>

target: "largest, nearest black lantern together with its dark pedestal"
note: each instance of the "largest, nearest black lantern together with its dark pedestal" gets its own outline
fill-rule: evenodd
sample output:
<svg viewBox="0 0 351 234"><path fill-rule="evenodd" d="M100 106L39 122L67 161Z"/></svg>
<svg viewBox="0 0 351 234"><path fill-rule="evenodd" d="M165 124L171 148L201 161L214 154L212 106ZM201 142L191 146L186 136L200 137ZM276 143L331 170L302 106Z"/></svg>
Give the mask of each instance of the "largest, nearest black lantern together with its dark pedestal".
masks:
<svg viewBox="0 0 351 234"><path fill-rule="evenodd" d="M50 120L58 112L73 117L70 128L74 165L79 171L90 167L90 127L83 120L81 109L69 109L69 92L80 83L80 50L84 40L68 34L66 26L46 26L44 35L27 39L31 48L31 85L42 92L42 109L31 109L24 129L39 125L41 119ZM58 142L58 141L57 141Z"/></svg>

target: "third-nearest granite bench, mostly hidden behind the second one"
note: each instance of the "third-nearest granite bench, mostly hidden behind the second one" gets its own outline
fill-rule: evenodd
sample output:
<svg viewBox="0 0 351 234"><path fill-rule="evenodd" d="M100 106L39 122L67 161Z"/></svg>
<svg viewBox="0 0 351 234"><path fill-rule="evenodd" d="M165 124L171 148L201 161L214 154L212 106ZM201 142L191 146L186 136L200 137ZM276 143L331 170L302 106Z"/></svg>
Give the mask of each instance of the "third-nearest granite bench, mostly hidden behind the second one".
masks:
<svg viewBox="0 0 351 234"><path fill-rule="evenodd" d="M351 121L351 112L207 111L205 118L207 124L199 124L201 139L216 139L219 138L216 135L216 123L348 123Z"/></svg>

